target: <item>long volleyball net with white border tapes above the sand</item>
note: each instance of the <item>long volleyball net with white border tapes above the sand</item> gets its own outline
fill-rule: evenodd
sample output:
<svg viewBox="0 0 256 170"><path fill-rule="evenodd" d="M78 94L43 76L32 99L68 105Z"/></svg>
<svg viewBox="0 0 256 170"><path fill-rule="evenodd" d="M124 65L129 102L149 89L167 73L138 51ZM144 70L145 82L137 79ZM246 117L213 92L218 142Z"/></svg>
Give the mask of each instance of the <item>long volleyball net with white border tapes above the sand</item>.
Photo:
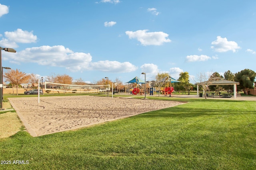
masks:
<svg viewBox="0 0 256 170"><path fill-rule="evenodd" d="M50 90L58 93L104 93L110 90L110 85L76 85L44 82L44 90L45 92Z"/></svg>

